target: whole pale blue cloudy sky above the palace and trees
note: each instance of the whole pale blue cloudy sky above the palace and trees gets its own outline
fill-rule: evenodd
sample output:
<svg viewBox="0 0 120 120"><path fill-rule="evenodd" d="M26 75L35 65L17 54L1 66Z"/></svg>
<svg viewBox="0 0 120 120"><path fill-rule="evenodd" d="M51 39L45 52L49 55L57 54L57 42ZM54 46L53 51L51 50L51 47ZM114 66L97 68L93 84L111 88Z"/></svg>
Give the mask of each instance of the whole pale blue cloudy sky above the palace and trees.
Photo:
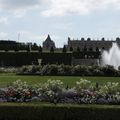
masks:
<svg viewBox="0 0 120 120"><path fill-rule="evenodd" d="M68 37L120 37L120 0L0 0L0 40L42 42L56 47Z"/></svg>

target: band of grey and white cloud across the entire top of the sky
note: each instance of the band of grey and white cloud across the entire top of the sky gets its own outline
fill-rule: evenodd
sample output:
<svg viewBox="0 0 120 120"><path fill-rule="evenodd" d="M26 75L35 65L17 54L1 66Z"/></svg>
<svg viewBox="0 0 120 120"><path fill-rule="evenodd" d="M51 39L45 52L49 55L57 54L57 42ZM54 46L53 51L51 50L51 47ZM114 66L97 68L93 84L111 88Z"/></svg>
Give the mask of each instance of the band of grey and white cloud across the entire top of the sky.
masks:
<svg viewBox="0 0 120 120"><path fill-rule="evenodd" d="M36 9L44 16L86 15L96 10L120 9L120 0L0 0L0 10L23 17Z"/></svg>

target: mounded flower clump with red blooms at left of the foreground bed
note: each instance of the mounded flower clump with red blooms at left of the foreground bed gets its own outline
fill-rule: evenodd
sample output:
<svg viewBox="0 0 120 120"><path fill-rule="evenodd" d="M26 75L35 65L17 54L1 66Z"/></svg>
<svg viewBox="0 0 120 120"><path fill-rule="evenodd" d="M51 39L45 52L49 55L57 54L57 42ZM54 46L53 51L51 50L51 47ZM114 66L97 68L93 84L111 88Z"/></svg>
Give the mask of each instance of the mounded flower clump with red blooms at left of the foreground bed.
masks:
<svg viewBox="0 0 120 120"><path fill-rule="evenodd" d="M26 82L17 80L8 86L5 90L5 97L7 101L27 101L32 97L30 86Z"/></svg>

